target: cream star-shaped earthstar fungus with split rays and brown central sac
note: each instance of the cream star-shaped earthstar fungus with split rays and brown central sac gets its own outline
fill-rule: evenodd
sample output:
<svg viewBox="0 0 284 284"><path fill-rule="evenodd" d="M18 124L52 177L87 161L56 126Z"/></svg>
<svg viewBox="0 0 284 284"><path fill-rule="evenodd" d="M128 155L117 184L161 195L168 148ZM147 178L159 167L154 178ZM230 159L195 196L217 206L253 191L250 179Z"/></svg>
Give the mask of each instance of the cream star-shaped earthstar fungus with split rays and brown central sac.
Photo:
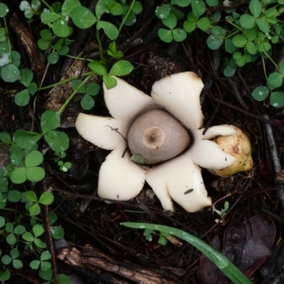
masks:
<svg viewBox="0 0 284 284"><path fill-rule="evenodd" d="M200 166L217 171L233 164L236 158L210 139L232 135L236 130L229 125L212 126L202 134L200 77L193 72L164 77L153 84L151 96L116 80L113 89L104 87L112 117L79 114L75 124L84 139L111 150L99 170L99 196L130 200L146 181L165 210L174 210L173 200L188 212L210 206ZM144 116L150 117L147 124L137 128ZM143 153L136 153L142 152L139 145ZM165 148L172 152L165 154ZM134 163L131 155L141 155L146 165Z"/></svg>

